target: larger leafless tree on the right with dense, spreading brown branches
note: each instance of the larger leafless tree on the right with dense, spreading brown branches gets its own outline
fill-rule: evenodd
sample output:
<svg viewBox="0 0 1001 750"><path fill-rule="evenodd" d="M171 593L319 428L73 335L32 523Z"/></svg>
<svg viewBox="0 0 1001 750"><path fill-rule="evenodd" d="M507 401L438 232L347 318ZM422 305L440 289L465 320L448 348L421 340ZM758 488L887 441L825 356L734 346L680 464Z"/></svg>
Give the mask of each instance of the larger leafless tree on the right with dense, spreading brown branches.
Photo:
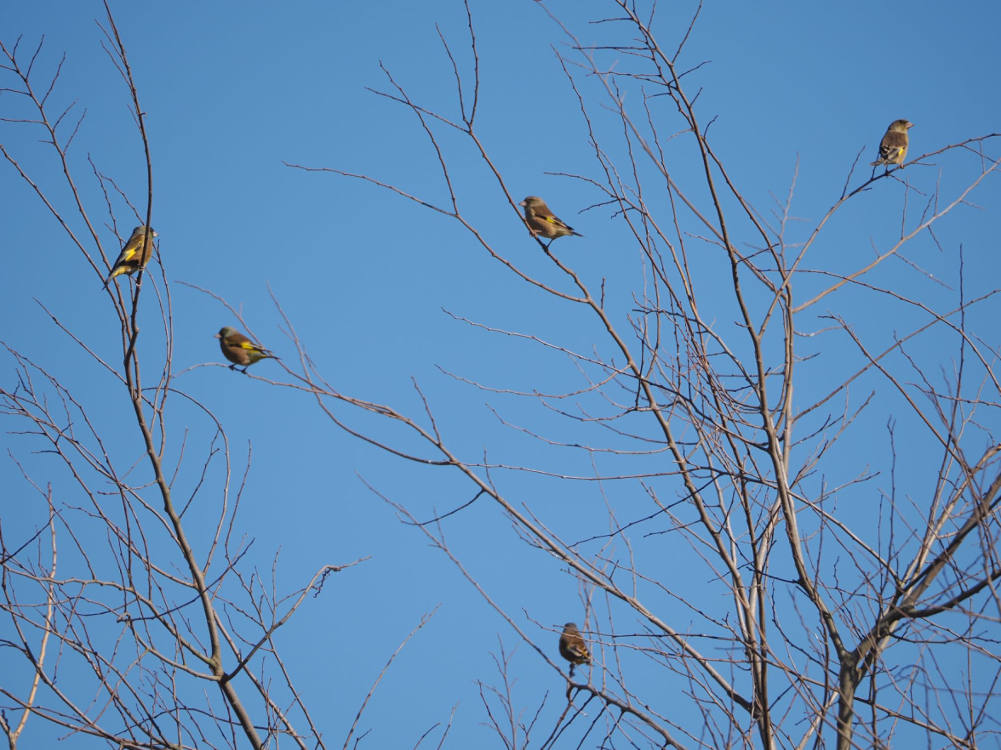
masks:
<svg viewBox="0 0 1001 750"><path fill-rule="evenodd" d="M402 422L426 452L363 437L405 460L460 472L473 500L498 504L528 548L545 550L579 578L600 658L586 680L570 682L568 695L583 694L585 705L600 709L588 720L581 709L564 711L543 747L566 737L565 723L574 721L581 726L569 744L578 746L830 743L845 750L887 746L898 734L907 742L923 736L935 746L978 746L995 731L990 717L1001 678L995 645L1001 447L992 429L1001 389L996 351L970 321L976 311L977 320L989 322L997 308L994 291L967 296L962 247L941 246L936 230L961 221L960 209L996 179L990 149L999 134L912 157L903 165L915 165L906 178L901 170L862 174L860 152L831 208L801 238L795 181L787 200L763 211L746 198L708 135L710 122L687 84L700 67L686 48L699 12L685 23L672 19L671 28L682 31L667 49L655 35L652 8L609 5L610 17L601 19L609 41L585 46L565 28L571 51L558 52L557 60L578 95L593 149L589 174L565 176L591 188L590 209L610 213L623 246L635 248L632 267L609 268L620 285L640 280L628 299L607 296L605 277L589 281L578 273L567 260L571 251L560 252L567 240L551 247L535 236L553 273L530 269L463 212L470 193L489 195L506 204L512 222L522 221L520 196L476 127L479 60L468 4L471 64L460 65L441 37L443 74L455 81L450 112L422 106L420 91L385 68L387 88L375 92L415 117L440 165L443 196L405 191L382 175L290 165L370 183L458 222L497 261L497 273L517 275L576 316L594 351L454 316L484 334L520 338L527 357L543 349L576 365L562 392L547 393L447 373L456 388L537 405L536 423L508 423L538 443L537 460L511 465L469 456L438 429L432 404L425 403L423 415L406 415L344 396L306 370L320 409L347 430L354 428L335 415L330 400ZM600 96L584 93L582 76L600 82ZM669 113L665 98L673 105ZM594 115L596 108L605 111ZM452 154L470 144L485 178L459 185L451 169L459 157ZM673 171L686 158L699 165L695 173ZM942 189L929 177L934 170L961 187ZM831 220L869 191L891 188L904 196L899 239L875 248L859 267L835 270L831 253L821 252ZM860 227L854 241L871 232ZM904 255L919 238L957 258L959 286L943 309L879 281L877 270L897 261L926 273ZM617 252L615 262L625 266L625 255ZM877 300L899 309L901 320L923 320L881 343L886 332L864 306ZM735 324L721 322L730 319ZM923 348L933 335L948 350ZM825 347L843 351L846 344L850 356L812 361ZM867 393L859 397L853 387ZM874 404L894 415L887 426L891 460L880 468L866 460L846 476L843 460L833 455L853 433L872 429ZM503 407L495 408L500 415ZM555 415L569 426L554 426ZM921 497L896 492L902 430L906 450L936 467L923 478ZM574 439L559 437L567 434ZM585 453L594 475L562 469L567 451ZM647 510L609 502L606 519L580 540L566 513L530 505L524 489L506 491L512 474L541 483L555 477L569 486L624 483L645 498ZM874 486L881 474L889 487ZM517 486L524 488L524 476ZM422 510L385 499L478 588L446 543L449 514L418 521ZM456 503L452 512L467 504ZM845 506L850 513L842 512ZM657 545L671 545L668 569L649 541L663 536ZM703 571L700 586L711 593L696 597L675 575L679 570ZM550 623L494 606L571 679L547 646L555 639ZM507 686L504 652L497 663ZM488 712L489 721L505 746L530 744L530 728L539 725L520 730L510 692L487 691L487 705L490 695L499 712Z"/></svg>

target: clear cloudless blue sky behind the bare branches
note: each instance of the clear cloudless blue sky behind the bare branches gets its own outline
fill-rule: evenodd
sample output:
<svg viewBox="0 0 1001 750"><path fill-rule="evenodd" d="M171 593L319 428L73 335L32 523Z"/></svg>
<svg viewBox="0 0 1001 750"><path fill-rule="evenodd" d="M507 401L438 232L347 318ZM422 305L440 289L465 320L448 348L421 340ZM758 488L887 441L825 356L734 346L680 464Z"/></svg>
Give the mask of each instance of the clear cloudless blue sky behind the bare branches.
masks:
<svg viewBox="0 0 1001 750"><path fill-rule="evenodd" d="M610 5L575 0L549 7L582 42L602 44L611 27L589 22L615 15ZM661 4L655 29L665 46L677 45L695 7L689 5ZM555 248L590 283L597 286L602 277L609 278L612 305L618 322L625 325L629 295L640 278L630 238L608 209L579 213L600 200L595 190L582 181L545 174L601 178L577 98L552 49L555 45L573 55L567 37L531 0L471 0L471 7L480 60L479 136L517 200L543 195L556 213L586 235L562 239ZM265 345L291 358L293 352L279 330L280 317L268 297L270 285L318 370L337 389L416 416L421 406L411 378L416 379L449 442L460 446L468 460L486 450L491 461L532 465L538 455L538 443L500 425L486 402L515 424L550 430L553 439L579 440L571 425L541 415L536 406L456 384L438 369L517 390L574 387L568 383L579 387L576 370L565 357L457 323L442 308L582 352L607 347L592 322L582 325L573 307L505 272L456 222L357 180L283 165L365 173L444 201L433 153L413 115L365 87L389 89L379 70L381 61L415 101L457 116L451 69L435 24L468 82L470 57L461 3L115 2L112 11L148 114L152 224L160 234L168 279L221 295L242 310ZM103 198L88 155L143 212L145 165L128 114L127 91L100 47L94 19L103 22L102 6L95 2L4 3L0 40L10 47L23 35L22 47L33 49L44 35L37 62L42 79L51 75L65 52L52 100L57 110L76 101L68 117L86 110L70 162L88 208L104 220ZM708 61L693 74L690 91L703 88L702 122L718 118L710 131L718 153L761 213L771 215L772 195L785 199L798 161L793 213L805 220L798 238L802 241L837 200L859 150L865 149L862 162L875 158L891 120L903 117L915 123L915 154L1001 132L996 81L1001 55L991 36L999 24L1001 6L995 2L967 4L962 11L931 1L707 4L682 67ZM628 59L620 63L631 64ZM590 111L614 158L621 158L621 139L616 140L620 126L601 108L597 82L580 70L574 73L593 97ZM6 81L0 86L11 85L7 79L0 81ZM662 101L667 122L673 105L667 98ZM0 95L0 116L16 118L23 112L17 97ZM462 208L477 228L531 271L556 280L468 142L446 130L439 132ZM665 126L665 136L673 132ZM39 138L27 126L0 122L0 143L39 184L59 185L53 199L72 215L69 196L58 183L58 165ZM688 168L679 166L682 171ZM934 167L908 172L922 189L934 187ZM944 185L954 187L952 179L945 174ZM914 250L916 262L955 288L955 254L963 242L971 296L997 285L998 186L994 178L972 198L986 211L964 208L944 230L940 239L948 257L930 238L916 243ZM882 181L858 207L841 215L817 249L815 266L855 268L871 257L870 240L885 250L899 236L899 183ZM76 398L91 404L121 466L141 461L120 387L54 328L34 301L114 362L120 359L119 333L111 302L100 291L101 279L6 162L0 163L0 340L63 379ZM138 222L120 201L116 209L127 235ZM912 210L920 212L922 207ZM78 217L70 223L80 230ZM102 232L113 254L116 241L107 229ZM923 295L939 309L948 309L948 300L954 299L954 291L937 287L899 262L881 271L879 281L890 283L894 275L899 275L902 290ZM812 288L820 282L803 283ZM233 318L216 301L188 287L172 284L171 296L175 369L220 362L212 334L222 325L235 325ZM848 293L832 309L856 314L862 321L881 321L883 327L873 335L884 345L898 330L889 316L897 315L899 307L883 308L874 296L860 297L864 307L846 304L846 299L851 299ZM149 316L145 330L158 336L152 294L146 294L143 305ZM732 319L727 303L721 301L719 311L709 315L717 316ZM899 330L910 330L914 320L901 320ZM826 325L817 319L817 329ZM805 353L812 351L809 341L803 346ZM149 355L157 361L155 352ZM828 366L836 371L838 355L832 359ZM0 380L12 388L12 362L6 353L0 362ZM147 367L147 377L155 367ZM263 362L252 372L277 376L280 370L273 362ZM247 447L252 447L237 523L239 531L254 540L248 569L257 565L268 575L272 556L280 550L278 586L290 591L323 564L371 556L334 576L322 595L310 599L278 635L286 664L321 719L327 740L339 746L333 738L346 733L389 654L423 613L440 604L376 691L360 724L362 730L374 727L373 733L362 746L410 747L431 724L446 721L456 702L450 746L492 744L489 730L479 725L485 717L473 681L496 682L489 652L497 650L498 637L511 649L519 644L518 636L443 555L395 520L359 476L421 518L469 499L467 483L394 460L339 431L308 398L268 388L222 367L194 369L175 385L208 406L225 426L234 476L241 475ZM822 390L819 383L817 391ZM195 410L176 406L177 414L168 424L168 463L177 460L184 431L189 431L189 465L179 482L186 494L211 429ZM885 424L891 413L891 406L876 409L866 430L843 448L845 463L838 468L846 477L858 473L870 456L873 464L885 461ZM359 427L372 425L357 414L342 415ZM43 522L44 514L37 495L7 458L8 449L36 482L53 482L57 502L75 505L79 499L65 471L53 468L51 457L33 455L37 446L30 440L7 434L19 429L9 418L2 424L0 518L10 540ZM929 460L920 454L901 459L905 469L916 471ZM594 473L586 457L575 452L551 453L546 465L566 473ZM503 472L497 479L517 503L526 503L554 523L579 512L601 517L603 491L619 508L621 520L649 509L635 483L571 484ZM916 488L922 486L915 482ZM661 489L666 496L678 491L670 482ZM203 489L192 515L204 503L212 508L206 523L214 518L219 493L217 481ZM563 527L566 538L594 532L585 523L580 526ZM472 574L554 653L555 637L527 623L522 608L546 626L583 621L575 580L548 557L528 551L495 506L481 500L451 519L445 530ZM679 558L657 539L646 542L650 546L645 553L670 576ZM669 612L670 602L663 604ZM685 629L689 621L682 615L673 624ZM626 631L639 628L628 619L619 624ZM525 644L513 672L519 680L515 697L520 705L535 707L547 690L550 709L560 703L564 686L559 675ZM42 731L37 719L31 723Z"/></svg>

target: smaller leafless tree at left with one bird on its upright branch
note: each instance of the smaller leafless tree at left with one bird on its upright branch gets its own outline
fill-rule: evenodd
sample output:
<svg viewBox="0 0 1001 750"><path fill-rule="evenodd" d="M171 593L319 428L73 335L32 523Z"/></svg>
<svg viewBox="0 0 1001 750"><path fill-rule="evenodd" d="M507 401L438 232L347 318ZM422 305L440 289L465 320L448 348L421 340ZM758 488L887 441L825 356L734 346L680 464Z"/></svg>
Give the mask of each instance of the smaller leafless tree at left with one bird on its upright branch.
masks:
<svg viewBox="0 0 1001 750"><path fill-rule="evenodd" d="M17 97L29 113L2 119L41 135L58 177L33 178L16 154L2 145L0 153L87 259L95 290L132 224L150 227L154 217L145 114L125 45L107 5L105 11L102 45L125 84L145 153L141 208L89 158L104 205L88 205L91 190L81 189L70 154L85 113L76 114L75 102L61 110L53 103L65 58L40 79L47 62L41 42L32 49L20 38L0 42L5 102ZM150 294L153 318L140 304ZM137 452L121 455L111 447L103 420L94 418L106 404L77 400L72 383L4 345L13 385L0 387L0 413L26 447L55 456L75 486L72 499L56 497L51 484L36 483L24 469L46 522L27 539L12 539L0 526L0 639L7 656L0 729L7 744L14 750L26 728L44 722L64 737L90 736L119 748L261 748L282 737L303 750L326 747L274 635L330 573L360 560L324 565L288 592L275 579L277 555L270 575L247 569L249 541L237 514L251 456L242 476L233 476L239 460L234 464L223 426L175 386L170 285L158 254L134 277L111 283L106 295L120 326L120 363L103 361L71 322L49 315L54 332L80 347L127 400ZM197 427L171 434L167 423L175 414ZM193 503L201 508L189 513Z"/></svg>

